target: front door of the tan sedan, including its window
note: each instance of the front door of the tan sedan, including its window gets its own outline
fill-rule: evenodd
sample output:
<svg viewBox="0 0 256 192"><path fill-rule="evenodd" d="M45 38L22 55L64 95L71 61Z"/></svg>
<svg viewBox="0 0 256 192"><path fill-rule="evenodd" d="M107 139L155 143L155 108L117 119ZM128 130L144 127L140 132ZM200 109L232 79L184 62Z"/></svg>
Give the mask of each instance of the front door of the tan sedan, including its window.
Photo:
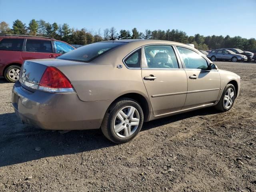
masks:
<svg viewBox="0 0 256 192"><path fill-rule="evenodd" d="M220 74L209 70L200 54L189 48L177 46L188 78L188 93L184 108L214 103L220 92Z"/></svg>

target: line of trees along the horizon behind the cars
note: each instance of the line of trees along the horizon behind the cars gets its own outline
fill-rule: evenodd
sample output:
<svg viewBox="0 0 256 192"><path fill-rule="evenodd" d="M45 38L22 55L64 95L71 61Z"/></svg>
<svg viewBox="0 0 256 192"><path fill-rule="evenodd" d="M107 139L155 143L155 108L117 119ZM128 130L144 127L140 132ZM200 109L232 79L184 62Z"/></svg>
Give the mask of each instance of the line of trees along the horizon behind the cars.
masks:
<svg viewBox="0 0 256 192"><path fill-rule="evenodd" d="M104 30L87 30L82 28L80 30L70 28L67 23L57 24L56 22L50 24L44 20L30 20L28 26L20 20L15 20L12 28L6 22L0 23L0 34L20 34L20 35L35 35L48 36L57 40L65 41L69 44L86 45L99 41L113 40L113 39L156 39L168 40L181 43L194 44L198 50L209 50L217 48L239 48L242 50L256 49L255 38L242 38L241 36L230 37L227 36L202 36L195 34L188 36L186 32L181 30L148 30L139 32L137 28L130 30L121 29L119 32L116 28L106 28Z"/></svg>

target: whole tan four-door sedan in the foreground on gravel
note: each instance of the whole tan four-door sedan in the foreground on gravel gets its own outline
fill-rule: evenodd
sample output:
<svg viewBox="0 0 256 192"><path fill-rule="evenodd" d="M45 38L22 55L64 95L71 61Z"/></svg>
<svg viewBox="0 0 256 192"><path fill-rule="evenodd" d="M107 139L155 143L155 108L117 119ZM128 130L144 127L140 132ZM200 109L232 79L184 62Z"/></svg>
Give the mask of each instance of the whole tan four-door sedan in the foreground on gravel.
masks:
<svg viewBox="0 0 256 192"><path fill-rule="evenodd" d="M239 90L240 76L219 70L188 45L114 40L57 59L25 61L12 104L24 123L50 130L101 128L112 142L124 143L143 122L210 106L226 112Z"/></svg>

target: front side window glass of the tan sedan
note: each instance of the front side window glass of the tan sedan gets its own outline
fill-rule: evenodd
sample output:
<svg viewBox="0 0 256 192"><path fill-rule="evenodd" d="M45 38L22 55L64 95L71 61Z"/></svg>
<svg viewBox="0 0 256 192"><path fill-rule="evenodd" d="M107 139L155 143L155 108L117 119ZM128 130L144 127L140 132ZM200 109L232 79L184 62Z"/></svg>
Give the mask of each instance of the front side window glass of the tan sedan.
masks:
<svg viewBox="0 0 256 192"><path fill-rule="evenodd" d="M208 69L206 60L198 53L184 47L177 47L187 69Z"/></svg>

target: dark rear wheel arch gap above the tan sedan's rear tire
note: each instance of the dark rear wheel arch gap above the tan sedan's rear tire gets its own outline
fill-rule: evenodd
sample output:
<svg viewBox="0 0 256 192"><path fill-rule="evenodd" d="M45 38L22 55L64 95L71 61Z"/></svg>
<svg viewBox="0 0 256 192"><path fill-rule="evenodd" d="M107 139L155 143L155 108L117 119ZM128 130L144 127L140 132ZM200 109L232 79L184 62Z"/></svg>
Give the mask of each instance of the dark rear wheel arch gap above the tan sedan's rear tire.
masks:
<svg viewBox="0 0 256 192"><path fill-rule="evenodd" d="M135 100L136 102L138 102L138 104L140 104L143 114L144 114L144 120L148 120L149 116L150 116L150 102L141 94L138 93L127 93L127 94L123 94L121 96L119 96L118 98L116 98L111 104L110 106L115 103L117 100L121 100L122 98L130 98L132 100ZM109 108L106 112L109 112Z"/></svg>

